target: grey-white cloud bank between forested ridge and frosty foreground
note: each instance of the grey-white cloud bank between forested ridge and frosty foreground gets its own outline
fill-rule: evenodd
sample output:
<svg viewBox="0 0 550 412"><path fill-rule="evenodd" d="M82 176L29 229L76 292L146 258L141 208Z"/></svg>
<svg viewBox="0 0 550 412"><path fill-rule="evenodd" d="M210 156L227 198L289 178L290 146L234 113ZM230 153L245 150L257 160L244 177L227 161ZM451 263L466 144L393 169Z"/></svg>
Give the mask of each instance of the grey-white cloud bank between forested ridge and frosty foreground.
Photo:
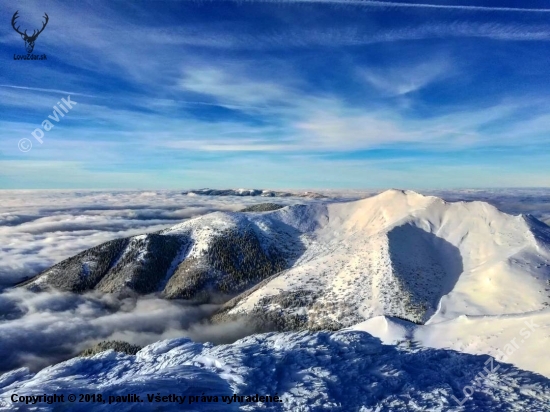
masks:
<svg viewBox="0 0 550 412"><path fill-rule="evenodd" d="M215 305L189 306L154 296L32 293L0 294L0 372L21 366L39 370L77 355L103 340L139 346L187 336L229 343L253 333L238 322L211 325Z"/></svg>

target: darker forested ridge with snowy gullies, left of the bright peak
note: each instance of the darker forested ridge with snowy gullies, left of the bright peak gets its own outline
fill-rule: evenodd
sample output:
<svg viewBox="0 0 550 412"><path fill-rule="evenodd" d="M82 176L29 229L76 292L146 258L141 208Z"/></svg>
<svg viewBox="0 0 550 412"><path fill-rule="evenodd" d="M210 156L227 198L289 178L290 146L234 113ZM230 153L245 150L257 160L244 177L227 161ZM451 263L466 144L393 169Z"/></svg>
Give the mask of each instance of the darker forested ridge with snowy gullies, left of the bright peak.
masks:
<svg viewBox="0 0 550 412"><path fill-rule="evenodd" d="M256 214L216 212L158 233L113 240L58 263L22 286L161 292L167 298L197 301L235 295L290 267L303 250L297 228L251 215Z"/></svg>

